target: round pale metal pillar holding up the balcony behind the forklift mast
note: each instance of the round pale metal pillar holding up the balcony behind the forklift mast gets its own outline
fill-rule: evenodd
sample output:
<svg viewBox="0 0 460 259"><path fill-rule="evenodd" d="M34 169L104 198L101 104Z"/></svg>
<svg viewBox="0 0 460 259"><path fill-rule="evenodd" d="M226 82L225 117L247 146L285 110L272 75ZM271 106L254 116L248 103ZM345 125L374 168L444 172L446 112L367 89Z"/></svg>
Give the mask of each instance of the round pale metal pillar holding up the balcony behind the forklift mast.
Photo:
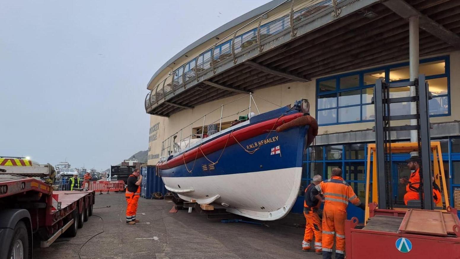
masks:
<svg viewBox="0 0 460 259"><path fill-rule="evenodd" d="M413 16L409 18L409 72L410 81L414 81L419 76L419 18ZM410 95L415 96L415 86L410 87ZM410 104L410 113L417 113L417 106L415 102ZM410 120L411 125L417 125L417 120ZM417 142L417 131L410 131L410 141ZM416 154L412 154L416 155Z"/></svg>

